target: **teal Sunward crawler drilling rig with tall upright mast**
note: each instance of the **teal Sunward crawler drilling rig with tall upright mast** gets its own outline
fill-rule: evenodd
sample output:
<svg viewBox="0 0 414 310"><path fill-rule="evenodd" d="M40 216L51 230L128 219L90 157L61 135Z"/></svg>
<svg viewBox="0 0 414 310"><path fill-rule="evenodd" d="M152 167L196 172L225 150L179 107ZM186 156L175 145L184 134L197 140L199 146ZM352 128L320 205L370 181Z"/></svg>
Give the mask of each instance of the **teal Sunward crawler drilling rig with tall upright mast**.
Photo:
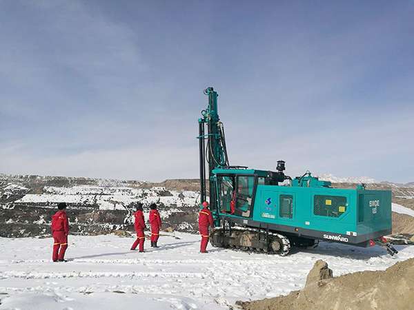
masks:
<svg viewBox="0 0 414 310"><path fill-rule="evenodd" d="M284 161L277 161L276 171L231 166L218 94L213 87L204 94L208 107L201 111L197 136L200 195L205 201L208 189L217 227L211 235L213 246L285 256L291 245L316 247L323 240L379 245L397 254L383 237L391 234L391 191L364 185L337 189L311 172L291 178L284 173Z"/></svg>

